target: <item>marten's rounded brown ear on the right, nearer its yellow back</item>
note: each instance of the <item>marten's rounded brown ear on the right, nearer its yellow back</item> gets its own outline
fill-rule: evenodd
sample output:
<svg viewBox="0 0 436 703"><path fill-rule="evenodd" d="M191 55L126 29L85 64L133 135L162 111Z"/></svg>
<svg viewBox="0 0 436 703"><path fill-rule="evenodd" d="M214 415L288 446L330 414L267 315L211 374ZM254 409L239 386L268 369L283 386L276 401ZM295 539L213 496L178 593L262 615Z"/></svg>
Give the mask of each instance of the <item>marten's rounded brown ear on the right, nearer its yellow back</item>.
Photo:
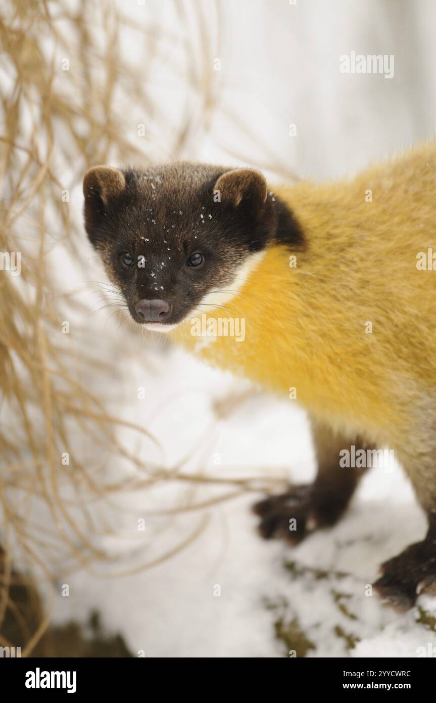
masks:
<svg viewBox="0 0 436 703"><path fill-rule="evenodd" d="M218 178L213 191L220 192L220 202L241 207L253 215L263 213L268 194L265 177L254 169L227 171Z"/></svg>

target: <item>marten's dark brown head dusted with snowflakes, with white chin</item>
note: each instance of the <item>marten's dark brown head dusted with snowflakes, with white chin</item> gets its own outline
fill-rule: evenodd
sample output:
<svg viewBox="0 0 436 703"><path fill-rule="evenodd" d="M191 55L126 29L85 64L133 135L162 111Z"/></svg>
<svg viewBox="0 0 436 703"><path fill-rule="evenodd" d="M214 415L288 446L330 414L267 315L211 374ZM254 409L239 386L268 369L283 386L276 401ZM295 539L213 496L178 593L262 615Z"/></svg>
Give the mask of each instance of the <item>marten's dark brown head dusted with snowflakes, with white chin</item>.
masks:
<svg viewBox="0 0 436 703"><path fill-rule="evenodd" d="M133 320L161 331L231 299L285 217L263 175L244 168L97 166L84 196L107 275Z"/></svg>

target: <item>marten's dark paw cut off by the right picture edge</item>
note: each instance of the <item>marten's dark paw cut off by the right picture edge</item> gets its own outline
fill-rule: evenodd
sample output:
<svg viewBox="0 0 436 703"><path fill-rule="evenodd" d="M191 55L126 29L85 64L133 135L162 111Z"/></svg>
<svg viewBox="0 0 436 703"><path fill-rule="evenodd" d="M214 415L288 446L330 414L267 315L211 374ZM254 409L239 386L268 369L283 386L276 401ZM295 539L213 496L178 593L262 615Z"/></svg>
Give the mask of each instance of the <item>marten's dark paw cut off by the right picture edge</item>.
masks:
<svg viewBox="0 0 436 703"><path fill-rule="evenodd" d="M383 601L399 612L409 610L420 593L436 595L436 544L432 539L411 544L381 565L374 588Z"/></svg>

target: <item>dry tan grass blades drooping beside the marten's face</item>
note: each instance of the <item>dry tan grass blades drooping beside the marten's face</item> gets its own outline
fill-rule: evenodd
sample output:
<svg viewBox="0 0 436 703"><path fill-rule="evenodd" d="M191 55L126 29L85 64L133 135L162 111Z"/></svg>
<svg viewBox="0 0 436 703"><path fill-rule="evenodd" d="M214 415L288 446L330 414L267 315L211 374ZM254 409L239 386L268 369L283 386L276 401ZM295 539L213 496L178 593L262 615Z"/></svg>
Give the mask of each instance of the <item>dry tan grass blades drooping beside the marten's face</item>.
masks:
<svg viewBox="0 0 436 703"><path fill-rule="evenodd" d="M136 22L110 2L82 0L76 11L62 0L6 1L1 7L0 252L20 252L22 265L20 276L0 271L0 632L6 612L14 613L11 583L27 578L23 573L53 581L56 564L65 569L107 560L95 536L107 534L108 527L88 510L92 501L162 480L189 486L211 480L185 474L182 465L171 471L144 465L119 444L123 423L95 392L113 384L117 369L110 359L119 350L112 348L104 363L90 351L88 310L63 290L62 271L53 270L53 252L59 250L81 269L86 265L81 218L67 195L77 192L90 165L177 158L190 152L200 129L208 129L217 93L212 66L220 41L219 4L210 6L213 22L202 3L194 18L182 1L170 4L177 20L171 35L154 18L144 15ZM141 53L133 58L126 56L126 30L140 40ZM162 64L186 85L184 117L176 129L171 111L154 98L152 78ZM138 137L126 105L140 106L144 137ZM64 321L74 321L74 333L62 333ZM143 427L130 427L147 436ZM101 456L128 461L140 474L110 482L103 461L84 460L90 445L94 457L101 449ZM65 453L68 465L62 463ZM233 485L199 503L190 489L180 510L204 508L251 488L249 479L214 482ZM44 505L52 529L34 522L35 501ZM131 570L183 548L203 521L182 543ZM17 562L20 575L13 570ZM26 633L23 655L47 623L48 616ZM0 645L8 644L0 637Z"/></svg>

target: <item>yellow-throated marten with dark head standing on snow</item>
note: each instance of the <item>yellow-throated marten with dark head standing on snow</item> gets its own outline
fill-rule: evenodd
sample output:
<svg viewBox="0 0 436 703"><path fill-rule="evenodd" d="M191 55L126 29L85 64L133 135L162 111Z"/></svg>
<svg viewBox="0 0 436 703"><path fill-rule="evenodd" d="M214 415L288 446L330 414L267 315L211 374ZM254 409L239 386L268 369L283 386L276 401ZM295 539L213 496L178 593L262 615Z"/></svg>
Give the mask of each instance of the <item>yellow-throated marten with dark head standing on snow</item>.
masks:
<svg viewBox="0 0 436 703"><path fill-rule="evenodd" d="M256 170L188 162L84 179L86 232L133 319L294 389L310 413L317 478L255 506L263 536L300 541L338 520L364 472L344 449L395 451L429 524L376 581L399 610L436 593L435 144L352 180L273 189ZM212 330L244 319L243 343L198 344L204 316Z"/></svg>

